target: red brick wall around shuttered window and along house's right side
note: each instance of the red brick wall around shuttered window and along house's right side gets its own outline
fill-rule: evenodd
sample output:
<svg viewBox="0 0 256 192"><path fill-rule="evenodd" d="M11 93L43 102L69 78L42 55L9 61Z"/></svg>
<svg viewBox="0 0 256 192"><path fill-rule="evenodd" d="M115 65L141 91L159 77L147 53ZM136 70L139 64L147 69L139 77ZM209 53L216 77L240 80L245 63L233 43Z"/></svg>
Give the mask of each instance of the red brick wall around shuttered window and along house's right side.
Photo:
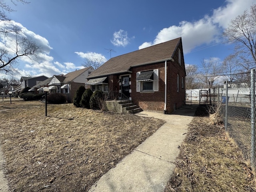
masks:
<svg viewBox="0 0 256 192"><path fill-rule="evenodd" d="M180 45L180 50L182 47ZM178 49L174 53L174 62L167 61L167 101L166 113L170 114L174 110L182 107L185 104L185 65L183 56L181 64L178 64ZM158 92L136 92L136 72L158 69ZM179 75L179 92L177 92L177 74ZM183 77L183 88L182 88ZM164 112L164 90L165 90L165 62L155 64L147 64L132 68L131 86L132 101L140 106L143 110L156 110Z"/></svg>

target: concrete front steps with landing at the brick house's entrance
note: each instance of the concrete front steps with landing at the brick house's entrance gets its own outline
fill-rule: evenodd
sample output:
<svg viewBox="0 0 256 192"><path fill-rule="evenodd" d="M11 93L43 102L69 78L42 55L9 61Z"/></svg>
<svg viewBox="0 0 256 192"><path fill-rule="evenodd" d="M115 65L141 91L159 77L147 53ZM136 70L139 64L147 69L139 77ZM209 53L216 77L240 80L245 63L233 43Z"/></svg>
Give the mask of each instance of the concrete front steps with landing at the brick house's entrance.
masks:
<svg viewBox="0 0 256 192"><path fill-rule="evenodd" d="M106 101L108 110L116 113L138 113L143 111L139 106L132 101Z"/></svg>

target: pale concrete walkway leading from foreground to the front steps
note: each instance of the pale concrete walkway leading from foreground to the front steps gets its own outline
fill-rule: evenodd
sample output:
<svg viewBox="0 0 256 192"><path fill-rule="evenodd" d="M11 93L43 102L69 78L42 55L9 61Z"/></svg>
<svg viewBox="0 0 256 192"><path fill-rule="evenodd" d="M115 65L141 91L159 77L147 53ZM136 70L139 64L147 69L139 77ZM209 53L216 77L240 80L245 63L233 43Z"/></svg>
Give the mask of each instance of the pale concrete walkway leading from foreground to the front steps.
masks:
<svg viewBox="0 0 256 192"><path fill-rule="evenodd" d="M98 180L89 192L163 192L175 168L179 146L198 105L184 106L173 114L140 112L137 115L166 121L115 168Z"/></svg>

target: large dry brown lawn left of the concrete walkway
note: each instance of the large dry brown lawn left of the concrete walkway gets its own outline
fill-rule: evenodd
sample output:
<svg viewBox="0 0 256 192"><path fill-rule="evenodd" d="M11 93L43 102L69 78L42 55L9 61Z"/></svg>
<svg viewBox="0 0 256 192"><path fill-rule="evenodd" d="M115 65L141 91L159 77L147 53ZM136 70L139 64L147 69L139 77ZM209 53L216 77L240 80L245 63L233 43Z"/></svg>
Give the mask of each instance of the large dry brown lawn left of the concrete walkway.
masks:
<svg viewBox="0 0 256 192"><path fill-rule="evenodd" d="M73 104L48 105L45 117L44 105L17 100L14 109L0 110L0 144L12 191L87 191L164 124Z"/></svg>

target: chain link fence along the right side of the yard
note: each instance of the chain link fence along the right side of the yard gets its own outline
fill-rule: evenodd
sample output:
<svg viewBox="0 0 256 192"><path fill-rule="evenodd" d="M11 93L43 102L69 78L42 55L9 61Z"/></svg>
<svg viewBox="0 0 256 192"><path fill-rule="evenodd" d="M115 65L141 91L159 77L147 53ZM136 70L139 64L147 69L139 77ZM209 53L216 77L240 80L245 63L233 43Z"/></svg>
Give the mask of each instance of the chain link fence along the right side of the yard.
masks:
<svg viewBox="0 0 256 192"><path fill-rule="evenodd" d="M226 131L255 169L255 70L251 71L251 81L247 85L248 88L238 88L226 82L224 88L210 89L210 98Z"/></svg>

